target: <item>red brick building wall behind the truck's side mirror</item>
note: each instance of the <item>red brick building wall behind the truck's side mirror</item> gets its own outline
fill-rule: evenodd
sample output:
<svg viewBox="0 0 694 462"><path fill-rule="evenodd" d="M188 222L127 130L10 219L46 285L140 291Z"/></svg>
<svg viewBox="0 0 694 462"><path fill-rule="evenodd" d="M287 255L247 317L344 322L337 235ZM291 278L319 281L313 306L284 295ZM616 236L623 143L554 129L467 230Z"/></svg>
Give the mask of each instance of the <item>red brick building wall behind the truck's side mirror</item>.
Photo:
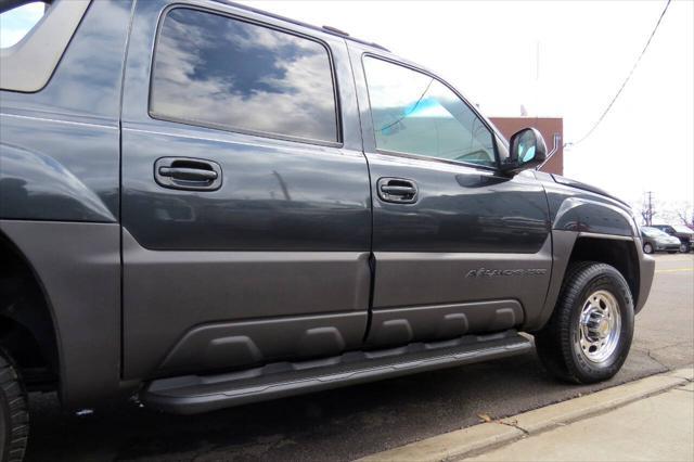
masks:
<svg viewBox="0 0 694 462"><path fill-rule="evenodd" d="M513 133L527 127L535 127L540 130L544 142L547 142L548 153L554 147L554 133L560 134L558 151L544 164L542 171L548 174L564 175L564 119L561 117L490 117L499 131L506 139Z"/></svg>

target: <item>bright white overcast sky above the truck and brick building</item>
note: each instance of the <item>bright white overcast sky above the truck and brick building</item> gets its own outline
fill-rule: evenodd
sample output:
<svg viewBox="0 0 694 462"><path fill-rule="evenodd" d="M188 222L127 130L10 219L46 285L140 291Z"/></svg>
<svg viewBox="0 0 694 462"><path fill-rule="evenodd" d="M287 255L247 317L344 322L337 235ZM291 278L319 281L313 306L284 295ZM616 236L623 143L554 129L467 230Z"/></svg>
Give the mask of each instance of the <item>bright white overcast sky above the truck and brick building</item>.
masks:
<svg viewBox="0 0 694 462"><path fill-rule="evenodd" d="M609 103L666 1L244 3L381 43L439 74L487 116L518 116L523 104L529 116L564 117L571 142ZM0 23L5 44L17 24ZM634 205L648 190L692 202L693 127L694 1L676 0L602 125L565 151L564 172Z"/></svg>

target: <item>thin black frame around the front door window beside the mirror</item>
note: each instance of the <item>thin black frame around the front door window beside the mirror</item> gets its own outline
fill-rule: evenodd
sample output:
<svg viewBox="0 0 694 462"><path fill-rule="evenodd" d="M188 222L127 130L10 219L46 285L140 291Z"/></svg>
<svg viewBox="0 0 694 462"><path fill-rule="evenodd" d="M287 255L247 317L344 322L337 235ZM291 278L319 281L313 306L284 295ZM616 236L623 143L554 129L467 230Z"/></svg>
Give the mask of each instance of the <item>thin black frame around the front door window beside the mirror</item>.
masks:
<svg viewBox="0 0 694 462"><path fill-rule="evenodd" d="M481 164L474 164L474 163L470 163L470 162L464 162L464 161L453 161L453 159L447 159L447 158L441 158L441 157L434 157L434 156L427 156L427 155L423 155L423 154L413 154L413 153L403 153L400 151L389 151L389 150L384 150L384 149L380 149L378 144L376 142L376 130L374 128L374 124L373 124L373 113L371 111L371 91L369 89L369 77L367 76L367 67L364 66L364 60L367 57L372 57L375 60L381 60L387 63L390 63L393 65L396 66L400 66L403 67L406 69L419 73L419 74L423 74L436 81L438 81L439 84L444 85L446 88L448 88L450 91L453 92L453 94L455 94L463 104L465 104L467 106L467 108L470 111L472 111L472 113L479 119L479 121L489 130L489 132L491 133L491 138L492 138L492 144L493 144L493 149L494 149L494 164L496 166L487 166L487 165L481 165ZM417 67L415 65L409 64L409 63L403 63L402 61L398 61L398 60L394 60L391 57L388 56L383 56L376 53L372 53L372 52L364 52L361 54L361 59L360 59L360 63L361 63L361 69L364 74L364 84L365 84L365 89L367 89L367 97L369 100L369 116L371 117L371 136L373 137L373 142L374 142L374 150L377 154L384 154L384 155L390 155L390 156L396 156L396 157L404 157L404 158L413 158L413 159L417 159L417 161L430 161L430 162L438 162L438 163L442 163L442 164L452 164L452 165L461 165L461 166L465 166L465 167L473 167L473 168L479 168L479 169L484 169L484 170L489 170L489 171L499 171L500 167L501 167L501 161L499 158L499 134L497 133L497 130L494 130L489 123L487 121L487 119L478 112L476 111L472 104L470 104L470 102L462 95L460 94L460 92L458 92L450 84L448 84L446 80L444 80L442 78L438 77L435 74L432 74L430 72L423 69L421 67Z"/></svg>

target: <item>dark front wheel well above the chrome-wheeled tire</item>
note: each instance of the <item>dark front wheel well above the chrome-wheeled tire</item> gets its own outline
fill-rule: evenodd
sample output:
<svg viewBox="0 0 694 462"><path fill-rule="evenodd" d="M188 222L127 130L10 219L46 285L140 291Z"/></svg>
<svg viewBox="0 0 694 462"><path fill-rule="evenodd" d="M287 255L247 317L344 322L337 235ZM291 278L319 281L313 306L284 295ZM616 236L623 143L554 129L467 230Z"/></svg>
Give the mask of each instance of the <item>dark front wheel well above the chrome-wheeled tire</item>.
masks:
<svg viewBox="0 0 694 462"><path fill-rule="evenodd" d="M569 258L574 261L600 261L611 265L627 280L634 307L639 301L639 255L633 241L578 238Z"/></svg>

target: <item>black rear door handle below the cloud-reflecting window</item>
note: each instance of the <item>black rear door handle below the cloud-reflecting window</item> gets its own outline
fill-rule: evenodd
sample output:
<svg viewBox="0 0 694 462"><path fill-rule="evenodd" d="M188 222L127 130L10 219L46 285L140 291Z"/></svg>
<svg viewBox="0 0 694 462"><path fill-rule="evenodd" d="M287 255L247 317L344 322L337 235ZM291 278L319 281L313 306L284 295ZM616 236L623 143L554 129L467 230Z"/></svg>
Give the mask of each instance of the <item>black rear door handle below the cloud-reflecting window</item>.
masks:
<svg viewBox="0 0 694 462"><path fill-rule="evenodd" d="M193 157L160 157L154 163L154 180L164 188L215 191L221 187L221 167Z"/></svg>

